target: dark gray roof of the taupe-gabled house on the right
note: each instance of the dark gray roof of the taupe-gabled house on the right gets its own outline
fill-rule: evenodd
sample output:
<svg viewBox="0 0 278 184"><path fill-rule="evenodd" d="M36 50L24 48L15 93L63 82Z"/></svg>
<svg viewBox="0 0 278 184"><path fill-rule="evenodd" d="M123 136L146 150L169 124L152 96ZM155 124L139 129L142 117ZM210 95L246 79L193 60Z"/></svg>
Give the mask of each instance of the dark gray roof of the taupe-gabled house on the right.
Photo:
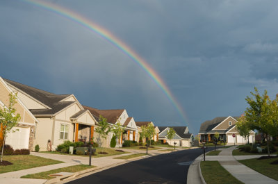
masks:
<svg viewBox="0 0 278 184"><path fill-rule="evenodd" d="M239 117L233 117L234 119L238 119ZM212 131L212 129L215 126L218 126L218 124L220 124L221 122L223 122L225 119L227 119L227 117L215 117L212 120L208 120L204 123L201 124L200 126L200 130L199 133L214 133L216 132L215 130ZM230 128L232 128L233 126L230 126L227 130L224 130L224 132L229 131ZM221 132L221 130L217 131L218 133L224 133Z"/></svg>

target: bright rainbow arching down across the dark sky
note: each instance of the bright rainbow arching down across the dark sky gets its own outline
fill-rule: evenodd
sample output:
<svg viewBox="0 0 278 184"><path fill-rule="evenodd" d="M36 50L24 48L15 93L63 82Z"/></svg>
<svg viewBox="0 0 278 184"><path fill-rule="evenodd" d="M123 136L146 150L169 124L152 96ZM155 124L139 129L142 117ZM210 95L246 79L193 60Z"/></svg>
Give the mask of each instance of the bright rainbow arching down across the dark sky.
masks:
<svg viewBox="0 0 278 184"><path fill-rule="evenodd" d="M33 4L33 6L43 8L44 10L48 10L50 12L54 12L57 15L60 15L62 17L65 17L67 19L70 19L72 22L75 22L79 24L80 26L83 26L84 28L88 28L90 31L97 33L100 37L104 38L104 40L107 40L111 44L113 44L117 49L120 49L126 56L131 58L136 64L138 64L142 69L147 72L147 74L154 80L154 82L163 90L163 92L166 94L167 98L171 101L174 108L177 109L179 112L179 115L181 115L181 118L183 119L184 123L186 123L186 113L184 112L181 105L178 103L177 99L174 98L174 95L170 92L169 87L167 87L166 83L163 81L161 76L159 76L154 69L149 66L149 64L138 54L133 51L129 46L127 46L124 42L122 42L120 39L115 37L112 33L107 31L105 28L102 28L101 26L95 24L91 20L77 14L76 12L72 10L68 10L66 8L63 8L61 6L58 6L54 3L49 3L47 1L41 1L41 0L21 0L26 3Z"/></svg>

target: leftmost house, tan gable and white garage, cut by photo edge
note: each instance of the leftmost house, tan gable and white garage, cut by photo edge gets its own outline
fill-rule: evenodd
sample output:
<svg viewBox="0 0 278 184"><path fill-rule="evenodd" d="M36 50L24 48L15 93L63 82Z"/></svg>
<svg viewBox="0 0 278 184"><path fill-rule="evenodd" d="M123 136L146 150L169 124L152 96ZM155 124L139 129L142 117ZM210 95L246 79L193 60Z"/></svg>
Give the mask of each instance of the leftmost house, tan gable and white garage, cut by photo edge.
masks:
<svg viewBox="0 0 278 184"><path fill-rule="evenodd" d="M5 108L9 104L9 94L12 94L13 90L7 85L3 78L0 77L0 108ZM35 131L36 126L38 126L38 119L36 119L33 114L28 110L24 103L17 99L14 108L16 109L16 114L20 115L20 120L17 126L13 128L12 131L6 135L5 144L10 145L13 149L33 149L33 141L37 137ZM0 146L3 145L3 126L1 124L0 129ZM17 131L16 131L17 130Z"/></svg>

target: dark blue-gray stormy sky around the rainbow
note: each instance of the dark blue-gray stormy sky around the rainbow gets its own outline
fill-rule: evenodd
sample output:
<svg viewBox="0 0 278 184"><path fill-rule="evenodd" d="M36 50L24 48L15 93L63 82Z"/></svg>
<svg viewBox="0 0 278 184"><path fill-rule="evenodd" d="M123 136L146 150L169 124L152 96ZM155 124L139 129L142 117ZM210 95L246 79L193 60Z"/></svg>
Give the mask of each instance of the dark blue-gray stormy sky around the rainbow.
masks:
<svg viewBox="0 0 278 184"><path fill-rule="evenodd" d="M163 91L122 51L65 17L17 0L0 1L0 76L83 105L125 108L136 121L186 126L238 116L254 87L278 92L278 1L51 2L113 33L163 78Z"/></svg>

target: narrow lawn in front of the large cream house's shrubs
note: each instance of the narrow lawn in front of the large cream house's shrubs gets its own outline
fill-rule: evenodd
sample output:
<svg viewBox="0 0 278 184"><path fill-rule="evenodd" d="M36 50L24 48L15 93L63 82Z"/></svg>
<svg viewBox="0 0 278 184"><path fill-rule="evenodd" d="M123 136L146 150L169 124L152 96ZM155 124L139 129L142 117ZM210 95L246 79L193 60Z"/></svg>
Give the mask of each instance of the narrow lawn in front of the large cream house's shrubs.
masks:
<svg viewBox="0 0 278 184"><path fill-rule="evenodd" d="M106 152L108 154L99 154L100 151L101 152ZM83 155L70 155L68 153L60 153L59 151L42 151L40 153L51 153L51 154L59 154L59 155L67 155L67 156L83 156ZM121 154L125 154L125 153L129 153L129 152L116 151L116 149L111 149L111 148L96 148L95 156L92 156L92 157L93 158L99 158L99 157L104 157L104 156L121 155Z"/></svg>

